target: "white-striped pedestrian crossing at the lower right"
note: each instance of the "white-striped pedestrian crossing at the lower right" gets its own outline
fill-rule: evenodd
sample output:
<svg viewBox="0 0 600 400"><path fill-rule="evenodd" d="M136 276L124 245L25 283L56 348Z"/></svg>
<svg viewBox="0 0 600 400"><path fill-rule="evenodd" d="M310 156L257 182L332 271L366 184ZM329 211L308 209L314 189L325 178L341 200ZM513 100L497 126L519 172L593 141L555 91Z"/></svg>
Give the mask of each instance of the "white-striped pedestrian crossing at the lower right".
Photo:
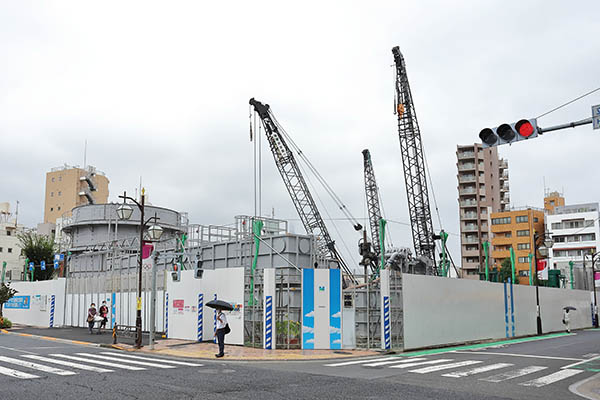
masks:
<svg viewBox="0 0 600 400"><path fill-rule="evenodd" d="M534 374L547 373L548 367L530 365L516 367L512 363L494 362L487 363L482 360L454 360L452 358L427 357L397 357L388 356L381 358L359 359L324 364L325 367L363 367L363 368L390 368L405 369L411 374L435 374L440 373L445 378L473 377L482 382L499 383L504 381L517 382L519 379L530 379ZM494 373L497 372L497 373ZM562 368L550 374L536 377L534 379L519 382L519 385L528 387L543 387L564 379L571 378L584 372L581 369ZM492 375L489 375L492 374Z"/></svg>

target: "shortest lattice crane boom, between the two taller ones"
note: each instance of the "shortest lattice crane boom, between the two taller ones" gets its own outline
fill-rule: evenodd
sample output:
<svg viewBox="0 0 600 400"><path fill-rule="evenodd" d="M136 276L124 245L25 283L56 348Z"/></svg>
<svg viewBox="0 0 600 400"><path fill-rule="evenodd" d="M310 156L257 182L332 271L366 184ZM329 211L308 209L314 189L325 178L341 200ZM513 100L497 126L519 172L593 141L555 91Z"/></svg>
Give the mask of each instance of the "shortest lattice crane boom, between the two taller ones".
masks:
<svg viewBox="0 0 600 400"><path fill-rule="evenodd" d="M369 226L371 228L371 243L367 241L367 232L364 231L363 240L359 243L359 251L363 257L361 265L365 268L371 266L371 270L376 270L376 265L381 257L381 243L379 224L381 221L381 203L379 201L379 191L377 182L375 181L375 172L373 171L373 163L371 162L371 153L369 149L362 151L363 164L365 171L365 193L367 195L367 211L369 213ZM371 251L371 246L373 250Z"/></svg>

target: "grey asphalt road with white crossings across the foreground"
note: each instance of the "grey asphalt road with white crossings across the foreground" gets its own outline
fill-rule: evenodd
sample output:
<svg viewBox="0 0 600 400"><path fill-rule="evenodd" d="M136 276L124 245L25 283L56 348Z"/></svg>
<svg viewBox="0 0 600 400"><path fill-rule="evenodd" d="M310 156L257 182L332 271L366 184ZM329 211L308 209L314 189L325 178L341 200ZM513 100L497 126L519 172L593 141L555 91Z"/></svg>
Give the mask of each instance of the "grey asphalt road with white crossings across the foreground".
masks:
<svg viewBox="0 0 600 400"><path fill-rule="evenodd" d="M260 363L2 334L0 399L577 399L569 385L600 370L599 335L412 357Z"/></svg>

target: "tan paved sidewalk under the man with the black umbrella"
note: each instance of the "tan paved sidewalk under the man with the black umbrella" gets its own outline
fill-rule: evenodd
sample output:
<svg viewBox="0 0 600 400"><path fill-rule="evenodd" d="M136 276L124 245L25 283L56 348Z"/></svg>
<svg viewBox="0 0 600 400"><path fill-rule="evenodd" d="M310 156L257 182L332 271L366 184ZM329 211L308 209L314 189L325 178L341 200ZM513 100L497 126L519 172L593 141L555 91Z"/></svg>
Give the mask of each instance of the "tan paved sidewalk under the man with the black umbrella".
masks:
<svg viewBox="0 0 600 400"><path fill-rule="evenodd" d="M137 350L133 338L119 338L118 344L113 345L111 330L103 334L90 334L87 328L39 328L32 326L15 325L8 330L9 334L34 336L46 340L61 340L76 344L112 347L125 351L140 351L150 354L168 355L173 357L189 357L216 359L217 345L212 342L198 343L190 340L162 339L157 340L154 350L148 346L147 333L143 336L144 347ZM252 347L226 345L225 357L221 360L236 361L283 361L283 360L321 360L348 357L375 356L381 354L377 351L367 350L263 350Z"/></svg>

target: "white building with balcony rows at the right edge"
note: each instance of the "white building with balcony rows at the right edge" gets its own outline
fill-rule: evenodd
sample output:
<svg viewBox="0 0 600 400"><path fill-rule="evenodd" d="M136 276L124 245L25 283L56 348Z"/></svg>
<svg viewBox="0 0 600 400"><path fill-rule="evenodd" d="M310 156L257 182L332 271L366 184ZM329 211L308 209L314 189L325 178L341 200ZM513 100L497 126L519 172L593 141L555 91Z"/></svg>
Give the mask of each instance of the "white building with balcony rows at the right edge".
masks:
<svg viewBox="0 0 600 400"><path fill-rule="evenodd" d="M591 254L600 248L600 212L598 203L573 204L555 207L547 215L547 227L554 240L550 249L550 268L560 269L561 275L573 287L592 288Z"/></svg>

